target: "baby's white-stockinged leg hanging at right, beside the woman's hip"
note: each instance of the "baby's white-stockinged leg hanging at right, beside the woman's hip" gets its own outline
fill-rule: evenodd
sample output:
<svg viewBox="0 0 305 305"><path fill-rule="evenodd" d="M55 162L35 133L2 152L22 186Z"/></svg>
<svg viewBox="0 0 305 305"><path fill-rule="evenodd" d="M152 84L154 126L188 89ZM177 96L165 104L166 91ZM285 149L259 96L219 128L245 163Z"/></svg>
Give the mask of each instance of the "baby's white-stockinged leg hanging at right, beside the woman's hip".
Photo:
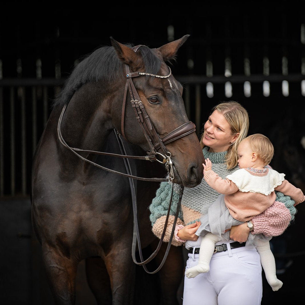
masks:
<svg viewBox="0 0 305 305"><path fill-rule="evenodd" d="M277 291L282 287L283 282L276 277L275 260L270 249L270 243L257 239L254 240L254 246L260 254L260 262L264 268L268 284L273 291Z"/></svg>

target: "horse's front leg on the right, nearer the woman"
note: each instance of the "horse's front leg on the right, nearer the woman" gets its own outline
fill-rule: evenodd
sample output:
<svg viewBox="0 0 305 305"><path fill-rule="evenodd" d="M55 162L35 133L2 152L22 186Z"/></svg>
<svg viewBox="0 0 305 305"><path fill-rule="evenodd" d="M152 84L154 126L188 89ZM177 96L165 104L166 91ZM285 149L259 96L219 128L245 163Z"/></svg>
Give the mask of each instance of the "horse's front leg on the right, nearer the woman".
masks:
<svg viewBox="0 0 305 305"><path fill-rule="evenodd" d="M127 242L128 241L128 242ZM129 239L115 242L113 249L104 258L109 274L112 304L133 304L135 285L135 264L131 257Z"/></svg>

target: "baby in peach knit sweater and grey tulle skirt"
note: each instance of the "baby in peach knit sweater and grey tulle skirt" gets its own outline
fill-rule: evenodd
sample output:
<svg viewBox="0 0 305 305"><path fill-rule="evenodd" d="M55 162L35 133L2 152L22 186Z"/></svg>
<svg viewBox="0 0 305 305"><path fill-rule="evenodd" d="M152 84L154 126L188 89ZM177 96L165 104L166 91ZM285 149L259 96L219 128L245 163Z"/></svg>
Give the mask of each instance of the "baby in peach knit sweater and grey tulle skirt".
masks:
<svg viewBox="0 0 305 305"><path fill-rule="evenodd" d="M237 152L240 169L225 179L212 170L212 163L209 159L205 160L206 164L203 164L203 175L206 182L224 195L220 195L207 214L200 219L201 225L196 232L196 235L203 236L199 262L185 272L188 278L194 278L200 273L209 271L215 243L224 239L228 240L228 235L226 237L223 235L225 230L230 229L232 225L246 221L250 222L248 225L250 231L253 230L250 220L274 203L276 198L274 190L290 196L295 201L295 205L305 200L303 192L284 179L285 174L266 167L274 155L273 145L266 136L250 135L242 140ZM209 215L213 215L213 221ZM277 291L283 283L275 274L275 260L269 244L271 237L268 238L263 234L250 234L246 246L249 245L250 236L260 254L267 282L273 291Z"/></svg>

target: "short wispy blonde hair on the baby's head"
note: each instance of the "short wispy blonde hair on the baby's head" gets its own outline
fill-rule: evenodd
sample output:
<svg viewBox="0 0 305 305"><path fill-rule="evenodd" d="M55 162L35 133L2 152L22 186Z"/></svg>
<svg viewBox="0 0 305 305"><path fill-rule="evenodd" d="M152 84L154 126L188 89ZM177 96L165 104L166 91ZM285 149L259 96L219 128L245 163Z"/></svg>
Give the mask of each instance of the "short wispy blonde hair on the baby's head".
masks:
<svg viewBox="0 0 305 305"><path fill-rule="evenodd" d="M262 160L264 165L271 162L274 156L274 147L271 141L262 134L249 135L243 141L248 141L251 149L257 153L257 157Z"/></svg>

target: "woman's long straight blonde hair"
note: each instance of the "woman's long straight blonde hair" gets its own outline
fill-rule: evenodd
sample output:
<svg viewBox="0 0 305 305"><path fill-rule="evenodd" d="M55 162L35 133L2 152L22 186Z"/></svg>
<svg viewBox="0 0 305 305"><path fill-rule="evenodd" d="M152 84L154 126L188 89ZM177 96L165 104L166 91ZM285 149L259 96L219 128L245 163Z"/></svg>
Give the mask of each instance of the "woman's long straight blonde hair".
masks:
<svg viewBox="0 0 305 305"><path fill-rule="evenodd" d="M210 114L212 114L215 110L225 117L231 127L232 135L239 133L236 141L229 146L225 157L225 163L227 164L228 169L231 169L237 165L237 147L248 134L249 115L247 110L241 104L234 101L221 102L213 107ZM200 145L203 148L205 145L202 143L202 138L203 134L200 139Z"/></svg>

